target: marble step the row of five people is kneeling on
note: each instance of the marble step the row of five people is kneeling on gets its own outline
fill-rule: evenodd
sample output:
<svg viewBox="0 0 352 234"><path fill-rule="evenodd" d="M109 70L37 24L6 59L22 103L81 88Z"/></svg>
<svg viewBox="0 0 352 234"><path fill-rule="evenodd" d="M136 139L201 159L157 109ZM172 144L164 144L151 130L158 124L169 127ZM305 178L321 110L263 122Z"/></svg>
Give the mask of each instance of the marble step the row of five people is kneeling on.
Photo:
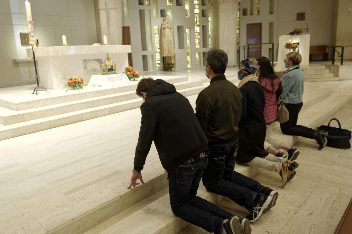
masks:
<svg viewBox="0 0 352 234"><path fill-rule="evenodd" d="M334 113L338 112L341 108L351 102L352 95L338 93L334 93L323 100L318 99L316 100L316 104L300 112L298 123L311 128L316 128L320 124L326 123L327 119L330 119ZM294 145L300 139L300 137L296 136L283 135L279 129L279 125L274 127L273 134L273 137L282 139L288 145ZM318 152L318 145L316 147ZM323 150L324 149L322 149L322 151ZM235 170L251 177L262 169L236 163ZM278 183L279 182L278 179ZM139 186L137 189L147 186L149 185L145 184ZM200 183L197 195L215 204L222 202L223 200L222 196L206 191L202 183ZM93 223L90 224L93 226ZM189 225L187 222L181 220L172 213L169 203L168 188L165 187L144 200L137 200L136 204L130 208L115 215L111 219L90 228L84 234L113 233L188 234L199 233L199 228L194 225ZM206 232L204 231L204 233Z"/></svg>

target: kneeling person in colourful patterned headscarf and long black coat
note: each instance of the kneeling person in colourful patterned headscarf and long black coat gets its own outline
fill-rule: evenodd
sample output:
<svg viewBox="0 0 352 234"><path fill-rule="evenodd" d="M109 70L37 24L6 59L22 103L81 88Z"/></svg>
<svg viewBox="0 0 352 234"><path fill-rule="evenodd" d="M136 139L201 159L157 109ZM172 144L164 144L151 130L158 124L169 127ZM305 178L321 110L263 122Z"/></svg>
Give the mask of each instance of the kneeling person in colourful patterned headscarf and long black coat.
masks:
<svg viewBox="0 0 352 234"><path fill-rule="evenodd" d="M276 171L282 178L281 187L296 174L292 162L269 154L264 149L266 123L264 119L264 91L256 77L260 69L255 58L241 61L238 88L243 96L242 117L238 123L238 152L236 161L253 167Z"/></svg>

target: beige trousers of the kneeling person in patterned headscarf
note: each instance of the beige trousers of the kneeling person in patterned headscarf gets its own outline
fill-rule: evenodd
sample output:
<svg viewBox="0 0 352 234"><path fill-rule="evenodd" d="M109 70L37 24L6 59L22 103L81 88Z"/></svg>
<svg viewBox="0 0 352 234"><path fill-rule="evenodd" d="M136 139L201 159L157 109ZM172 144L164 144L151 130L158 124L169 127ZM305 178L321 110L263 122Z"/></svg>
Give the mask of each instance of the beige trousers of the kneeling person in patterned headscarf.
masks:
<svg viewBox="0 0 352 234"><path fill-rule="evenodd" d="M282 157L276 157L273 154L269 154L264 158L255 157L252 161L247 162L248 165L252 167L260 167L267 169L269 171L276 171L280 173L281 171L281 164L285 163L286 159Z"/></svg>

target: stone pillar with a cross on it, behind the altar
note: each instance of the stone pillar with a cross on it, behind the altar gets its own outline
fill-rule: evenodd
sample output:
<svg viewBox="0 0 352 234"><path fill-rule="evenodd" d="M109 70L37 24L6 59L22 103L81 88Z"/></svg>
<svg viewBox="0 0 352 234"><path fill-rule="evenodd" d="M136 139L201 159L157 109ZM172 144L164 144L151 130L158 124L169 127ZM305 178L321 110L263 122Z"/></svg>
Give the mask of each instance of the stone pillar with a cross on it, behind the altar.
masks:
<svg viewBox="0 0 352 234"><path fill-rule="evenodd" d="M94 0L98 43L106 35L108 44L122 45L123 0Z"/></svg>

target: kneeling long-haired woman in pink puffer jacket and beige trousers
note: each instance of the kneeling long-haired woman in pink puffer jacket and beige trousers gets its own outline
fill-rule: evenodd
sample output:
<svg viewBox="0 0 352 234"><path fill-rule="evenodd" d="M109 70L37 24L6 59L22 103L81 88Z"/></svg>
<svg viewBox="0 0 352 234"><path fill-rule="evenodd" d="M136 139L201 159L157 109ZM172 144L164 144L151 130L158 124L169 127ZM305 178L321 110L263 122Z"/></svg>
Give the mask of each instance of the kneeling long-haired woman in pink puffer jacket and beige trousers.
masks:
<svg viewBox="0 0 352 234"><path fill-rule="evenodd" d="M287 144L272 138L271 133L277 119L277 103L282 93L282 85L280 79L275 75L274 69L271 66L270 60L266 57L257 59L259 68L257 70L258 81L263 87L265 106L264 119L266 123L266 137L264 149L270 154L277 157L287 158L279 149L284 149L288 152L288 160L295 160L300 153L295 147L289 147ZM298 167L298 165L297 165Z"/></svg>

